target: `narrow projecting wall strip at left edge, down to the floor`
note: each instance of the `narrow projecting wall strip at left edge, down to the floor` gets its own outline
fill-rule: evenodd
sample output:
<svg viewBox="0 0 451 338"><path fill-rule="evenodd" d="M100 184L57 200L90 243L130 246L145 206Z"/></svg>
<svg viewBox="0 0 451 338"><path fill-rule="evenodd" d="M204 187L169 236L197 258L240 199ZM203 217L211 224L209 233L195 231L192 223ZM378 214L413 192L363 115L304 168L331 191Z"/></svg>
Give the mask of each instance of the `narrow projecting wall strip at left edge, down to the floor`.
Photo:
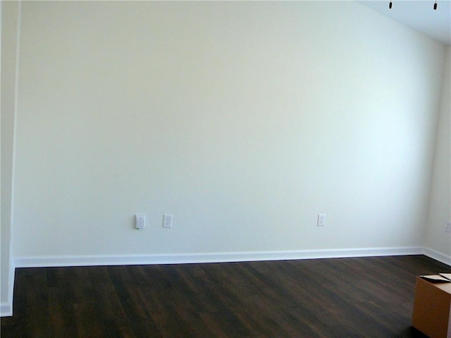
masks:
<svg viewBox="0 0 451 338"><path fill-rule="evenodd" d="M11 223L13 195L13 141L16 111L16 62L18 58L17 1L1 1L1 265L0 314L11 315L13 300L13 262Z"/></svg>

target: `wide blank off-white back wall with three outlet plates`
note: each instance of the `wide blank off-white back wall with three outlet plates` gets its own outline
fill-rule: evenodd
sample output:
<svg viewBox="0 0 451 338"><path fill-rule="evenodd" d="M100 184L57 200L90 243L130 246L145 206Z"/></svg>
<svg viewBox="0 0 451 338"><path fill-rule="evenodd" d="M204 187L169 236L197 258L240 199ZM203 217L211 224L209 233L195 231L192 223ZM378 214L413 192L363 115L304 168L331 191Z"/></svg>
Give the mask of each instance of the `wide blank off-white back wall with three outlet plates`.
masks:
<svg viewBox="0 0 451 338"><path fill-rule="evenodd" d="M311 1L27 1L21 36L15 258L424 245L438 42Z"/></svg>

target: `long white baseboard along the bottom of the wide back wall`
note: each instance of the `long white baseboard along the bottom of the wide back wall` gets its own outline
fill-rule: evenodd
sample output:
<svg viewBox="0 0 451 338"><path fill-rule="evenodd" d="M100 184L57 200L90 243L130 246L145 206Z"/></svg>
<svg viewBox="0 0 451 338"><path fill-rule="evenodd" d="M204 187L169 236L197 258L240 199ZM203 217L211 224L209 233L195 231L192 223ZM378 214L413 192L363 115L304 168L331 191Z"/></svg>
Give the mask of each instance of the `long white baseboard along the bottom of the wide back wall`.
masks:
<svg viewBox="0 0 451 338"><path fill-rule="evenodd" d="M296 259L349 258L369 256L402 256L423 254L424 249L417 246L373 249L336 249L301 251L259 251L259 252L219 252L219 253L169 253L153 255L124 256L39 256L16 257L17 268L36 268L52 266L90 266L90 265L148 265L185 263L225 263L245 261L285 261Z"/></svg>

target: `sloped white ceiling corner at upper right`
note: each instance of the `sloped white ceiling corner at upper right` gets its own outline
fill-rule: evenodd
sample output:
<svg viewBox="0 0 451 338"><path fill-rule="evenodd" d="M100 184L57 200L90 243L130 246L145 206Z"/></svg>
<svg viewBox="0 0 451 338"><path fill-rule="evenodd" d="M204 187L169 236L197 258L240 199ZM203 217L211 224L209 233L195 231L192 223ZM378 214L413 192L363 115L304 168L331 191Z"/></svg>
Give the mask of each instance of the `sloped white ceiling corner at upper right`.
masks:
<svg viewBox="0 0 451 338"><path fill-rule="evenodd" d="M435 0L392 0L391 9L388 8L390 0L359 2L398 23L422 32L443 44L451 45L451 0L437 0L435 11L433 9Z"/></svg>

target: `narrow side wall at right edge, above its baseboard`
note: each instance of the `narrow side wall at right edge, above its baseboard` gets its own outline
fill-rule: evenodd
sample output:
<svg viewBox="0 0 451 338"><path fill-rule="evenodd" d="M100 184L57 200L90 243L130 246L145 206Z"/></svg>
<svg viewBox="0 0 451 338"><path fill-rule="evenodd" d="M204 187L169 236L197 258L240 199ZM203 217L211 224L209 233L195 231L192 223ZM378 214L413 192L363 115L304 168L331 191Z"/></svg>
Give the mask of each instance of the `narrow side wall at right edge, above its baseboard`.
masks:
<svg viewBox="0 0 451 338"><path fill-rule="evenodd" d="M431 185L426 246L435 254L448 257L451 263L451 235L445 224L451 221L451 47L447 47L443 72L442 99Z"/></svg>

